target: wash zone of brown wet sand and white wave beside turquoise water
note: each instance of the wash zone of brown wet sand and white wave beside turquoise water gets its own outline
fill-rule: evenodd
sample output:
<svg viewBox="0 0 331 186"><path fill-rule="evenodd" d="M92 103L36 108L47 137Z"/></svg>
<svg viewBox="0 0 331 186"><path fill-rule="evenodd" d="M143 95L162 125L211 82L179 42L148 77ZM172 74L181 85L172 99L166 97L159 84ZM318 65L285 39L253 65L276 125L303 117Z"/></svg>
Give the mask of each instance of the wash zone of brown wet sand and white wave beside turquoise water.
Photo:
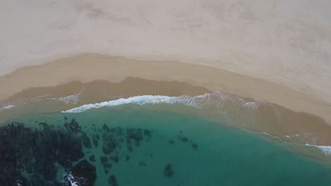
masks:
<svg viewBox="0 0 331 186"><path fill-rule="evenodd" d="M205 94L206 92L209 93ZM168 96L160 97L159 94ZM182 95L190 96L182 97ZM140 99L141 96L144 99ZM171 101L178 99L180 104ZM35 113L59 113L73 108L77 111L86 104L90 109L93 105L98 107L99 103L109 103L108 106L114 103L114 106L126 108L125 104L130 101L137 106L140 105L139 101L144 101L146 104L141 102L144 105L141 109L189 114L223 123L232 128L257 132L260 135L271 135L270 140L284 143L284 147L294 142L299 145L293 147L293 150L313 159L328 161L330 154L331 126L322 118L308 113L294 112L277 104L254 102L252 99L233 94L212 93L204 87L184 82L144 80L134 77L127 77L117 83L106 80L86 83L74 81L55 87L25 89L7 101L7 104L16 101L16 105L0 110L0 123L3 124L25 116L33 116ZM160 104L154 105L155 101ZM202 107L196 108L194 106L196 104ZM107 104L103 104L105 105ZM127 108L132 108L134 105L127 105ZM223 115L222 112L226 114ZM318 147L319 151L306 149L307 144ZM327 149L323 149L325 147Z"/></svg>

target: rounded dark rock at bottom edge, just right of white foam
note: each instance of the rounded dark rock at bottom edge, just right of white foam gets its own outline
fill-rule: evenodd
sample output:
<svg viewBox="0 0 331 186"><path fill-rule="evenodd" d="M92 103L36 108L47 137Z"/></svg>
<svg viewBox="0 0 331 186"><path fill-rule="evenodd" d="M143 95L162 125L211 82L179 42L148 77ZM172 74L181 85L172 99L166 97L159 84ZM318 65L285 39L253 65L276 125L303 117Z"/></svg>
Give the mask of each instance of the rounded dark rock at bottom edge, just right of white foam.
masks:
<svg viewBox="0 0 331 186"><path fill-rule="evenodd" d="M86 181L84 182L84 185L86 186L93 186L97 178L97 175L95 174L95 166L88 163L85 159L72 168L72 175L77 178L85 178Z"/></svg>

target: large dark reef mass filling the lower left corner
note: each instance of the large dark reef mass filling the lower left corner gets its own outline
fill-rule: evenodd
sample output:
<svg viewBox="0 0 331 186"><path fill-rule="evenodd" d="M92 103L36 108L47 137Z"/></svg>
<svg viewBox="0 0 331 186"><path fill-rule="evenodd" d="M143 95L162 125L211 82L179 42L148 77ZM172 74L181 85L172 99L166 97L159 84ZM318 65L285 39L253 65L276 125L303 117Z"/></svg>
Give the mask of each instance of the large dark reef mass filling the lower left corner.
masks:
<svg viewBox="0 0 331 186"><path fill-rule="evenodd" d="M66 125L69 131L78 131L76 121ZM58 163L71 168L72 163L83 158L81 137L68 130L54 129L39 123L42 130L25 128L23 123L11 123L0 128L0 182L13 185L59 185L56 180ZM23 172L29 178L23 178ZM23 181L24 180L24 181Z"/></svg>

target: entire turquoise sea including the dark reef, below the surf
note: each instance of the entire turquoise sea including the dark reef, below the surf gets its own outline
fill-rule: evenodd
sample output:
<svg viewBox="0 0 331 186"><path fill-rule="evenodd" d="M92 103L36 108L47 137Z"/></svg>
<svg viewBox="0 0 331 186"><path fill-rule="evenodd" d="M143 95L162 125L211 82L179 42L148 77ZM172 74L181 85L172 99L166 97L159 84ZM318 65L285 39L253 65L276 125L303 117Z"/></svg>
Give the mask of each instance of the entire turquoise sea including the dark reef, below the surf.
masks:
<svg viewBox="0 0 331 186"><path fill-rule="evenodd" d="M4 185L331 185L326 163L189 114L118 106L15 122L0 133Z"/></svg>

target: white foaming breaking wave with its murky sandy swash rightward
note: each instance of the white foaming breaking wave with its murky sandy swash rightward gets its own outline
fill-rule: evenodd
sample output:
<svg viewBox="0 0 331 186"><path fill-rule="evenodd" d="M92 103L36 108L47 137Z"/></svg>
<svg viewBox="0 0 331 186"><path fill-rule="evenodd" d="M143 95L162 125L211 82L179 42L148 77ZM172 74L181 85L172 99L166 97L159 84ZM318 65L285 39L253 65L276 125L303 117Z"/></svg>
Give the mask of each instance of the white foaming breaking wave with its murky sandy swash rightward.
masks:
<svg viewBox="0 0 331 186"><path fill-rule="evenodd" d="M309 129L303 128L303 125L291 125L291 123L307 122L306 119L302 119L303 116L298 115L299 113L289 113L288 109L281 108L275 104L245 101L234 94L222 94L221 92L214 92L212 94L204 94L196 97L142 95L137 97L115 99L96 104L85 104L83 106L62 112L81 113L91 109L124 106L130 104L139 106L167 106L178 104L180 106L178 107L180 108L180 111L192 108L194 113L201 113L203 116L217 120L220 123L226 123L227 125L243 128L245 130L265 132L265 134L279 137L283 140L292 140L293 138L294 142L303 145L324 144L325 139L330 138L328 135L319 135L317 138L317 135L311 133ZM188 108L182 109L181 106L187 106ZM176 108L177 106L171 106L170 111L173 111ZM313 124L316 125L316 123ZM331 147L316 147L322 150L324 154L328 156L331 155Z"/></svg>

